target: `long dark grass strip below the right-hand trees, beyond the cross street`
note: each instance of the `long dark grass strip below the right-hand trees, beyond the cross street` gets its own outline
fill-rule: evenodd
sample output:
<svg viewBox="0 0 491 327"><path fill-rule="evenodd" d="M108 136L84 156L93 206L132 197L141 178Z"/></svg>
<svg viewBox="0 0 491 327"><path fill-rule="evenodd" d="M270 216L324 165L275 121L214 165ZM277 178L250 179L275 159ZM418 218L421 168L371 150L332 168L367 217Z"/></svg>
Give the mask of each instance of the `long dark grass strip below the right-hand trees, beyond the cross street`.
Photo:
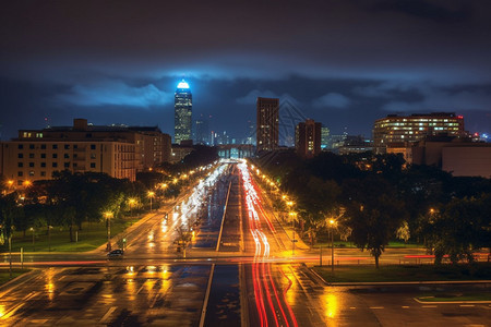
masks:
<svg viewBox="0 0 491 327"><path fill-rule="evenodd" d="M434 280L489 280L491 264L468 265L419 265L419 266L335 266L314 267L327 282L379 282L379 281L434 281Z"/></svg>

